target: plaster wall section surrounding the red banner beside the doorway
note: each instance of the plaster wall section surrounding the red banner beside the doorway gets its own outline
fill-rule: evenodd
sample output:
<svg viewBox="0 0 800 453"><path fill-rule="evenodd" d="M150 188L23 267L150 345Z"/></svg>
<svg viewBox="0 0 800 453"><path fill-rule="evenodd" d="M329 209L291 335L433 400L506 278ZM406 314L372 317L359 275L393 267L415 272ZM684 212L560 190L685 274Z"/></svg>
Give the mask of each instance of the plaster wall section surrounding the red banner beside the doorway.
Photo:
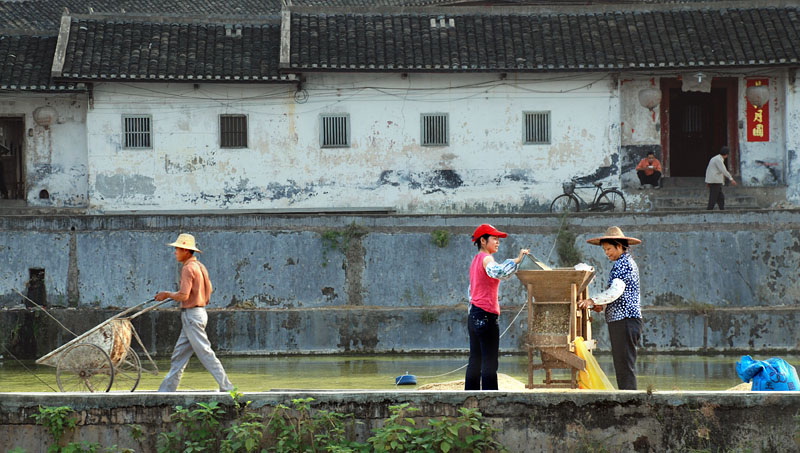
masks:
<svg viewBox="0 0 800 453"><path fill-rule="evenodd" d="M769 78L769 141L747 141L747 80L739 79L739 119L743 127L739 129L739 170L742 184L745 186L779 186L786 184L786 135L793 127L786 124L787 100L786 72L775 71L761 74L750 74L751 78ZM795 123L797 124L797 123ZM738 126L738 125L737 125Z"/></svg>

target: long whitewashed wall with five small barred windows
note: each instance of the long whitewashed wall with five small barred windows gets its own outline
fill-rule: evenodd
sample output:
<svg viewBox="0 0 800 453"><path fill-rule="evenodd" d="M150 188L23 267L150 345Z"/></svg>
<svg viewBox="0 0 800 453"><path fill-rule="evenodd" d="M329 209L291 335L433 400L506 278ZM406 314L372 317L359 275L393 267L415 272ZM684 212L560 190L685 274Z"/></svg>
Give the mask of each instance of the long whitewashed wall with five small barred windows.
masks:
<svg viewBox="0 0 800 453"><path fill-rule="evenodd" d="M95 86L92 207L526 212L573 176L618 181L619 98L606 75L308 74L303 87L299 103L294 85ZM523 111L542 110L552 143L523 145ZM434 112L449 114L447 147L419 144L420 114ZM152 115L153 149L122 149L126 113ZM224 113L248 115L248 149L219 148ZM323 113L350 115L351 147L320 148Z"/></svg>

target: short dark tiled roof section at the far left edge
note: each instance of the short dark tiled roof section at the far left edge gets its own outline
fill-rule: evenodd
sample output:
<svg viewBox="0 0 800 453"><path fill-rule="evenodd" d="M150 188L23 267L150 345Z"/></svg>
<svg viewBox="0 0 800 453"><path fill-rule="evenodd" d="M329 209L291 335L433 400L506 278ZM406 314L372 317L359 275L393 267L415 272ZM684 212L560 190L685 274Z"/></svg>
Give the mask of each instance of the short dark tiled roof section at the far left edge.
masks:
<svg viewBox="0 0 800 453"><path fill-rule="evenodd" d="M70 90L71 84L50 83L55 36L0 35L0 90Z"/></svg>

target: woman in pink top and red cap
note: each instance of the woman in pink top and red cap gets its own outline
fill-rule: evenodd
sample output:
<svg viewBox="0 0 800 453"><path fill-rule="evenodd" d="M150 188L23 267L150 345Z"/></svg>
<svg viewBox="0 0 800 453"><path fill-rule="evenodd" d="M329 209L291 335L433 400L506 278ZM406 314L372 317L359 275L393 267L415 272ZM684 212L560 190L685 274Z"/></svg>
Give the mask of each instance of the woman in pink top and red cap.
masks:
<svg viewBox="0 0 800 453"><path fill-rule="evenodd" d="M528 254L528 249L521 249L518 257L497 263L492 255L500 248L500 238L507 236L486 223L472 234L478 254L469 268L469 364L464 390L497 390L497 356L500 352L497 289L500 280L513 275L517 265Z"/></svg>

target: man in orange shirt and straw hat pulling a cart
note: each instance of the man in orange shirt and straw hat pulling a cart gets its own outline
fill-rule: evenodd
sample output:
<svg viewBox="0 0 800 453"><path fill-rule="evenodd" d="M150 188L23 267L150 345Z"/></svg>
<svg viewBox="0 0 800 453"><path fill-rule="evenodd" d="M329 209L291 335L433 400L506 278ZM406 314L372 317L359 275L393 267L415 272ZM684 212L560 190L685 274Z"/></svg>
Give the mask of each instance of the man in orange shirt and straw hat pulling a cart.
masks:
<svg viewBox="0 0 800 453"><path fill-rule="evenodd" d="M208 279L208 270L194 256L195 252L202 252L198 250L194 236L191 234L183 233L178 236L178 240L167 245L175 247L175 259L183 264L181 286L176 293L161 291L156 294L155 299L162 301L169 298L181 303L181 335L172 352L169 373L164 377L158 391L174 392L177 390L183 370L189 363L192 353L197 354L197 358L200 359L203 366L217 380L220 391L233 390L233 384L228 380L228 375L225 374L222 364L211 349L211 343L206 335L208 314L205 306L208 305L213 288L211 280Z"/></svg>

